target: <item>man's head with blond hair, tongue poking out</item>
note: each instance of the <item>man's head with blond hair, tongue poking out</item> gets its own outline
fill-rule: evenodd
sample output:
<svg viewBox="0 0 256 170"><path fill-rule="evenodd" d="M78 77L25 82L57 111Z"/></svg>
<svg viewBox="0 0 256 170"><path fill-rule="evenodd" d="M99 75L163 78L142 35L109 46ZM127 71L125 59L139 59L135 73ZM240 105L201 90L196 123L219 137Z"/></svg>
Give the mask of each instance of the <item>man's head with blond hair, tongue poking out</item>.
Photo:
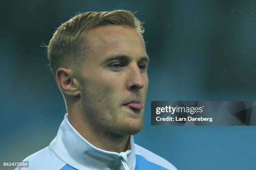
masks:
<svg viewBox="0 0 256 170"><path fill-rule="evenodd" d="M62 24L48 57L68 112L90 128L131 135L142 128L148 88L143 28L125 10L89 12ZM130 103L130 104L128 104Z"/></svg>

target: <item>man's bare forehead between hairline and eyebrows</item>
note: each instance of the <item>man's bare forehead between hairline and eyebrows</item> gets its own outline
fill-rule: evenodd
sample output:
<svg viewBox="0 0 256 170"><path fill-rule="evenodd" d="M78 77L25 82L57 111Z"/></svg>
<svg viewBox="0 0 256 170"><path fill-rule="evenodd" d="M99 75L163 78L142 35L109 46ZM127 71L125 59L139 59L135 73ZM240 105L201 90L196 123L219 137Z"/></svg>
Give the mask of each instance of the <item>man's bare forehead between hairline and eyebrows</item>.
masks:
<svg viewBox="0 0 256 170"><path fill-rule="evenodd" d="M104 59L109 55L146 56L146 47L136 29L122 25L108 25L87 33L88 57Z"/></svg>

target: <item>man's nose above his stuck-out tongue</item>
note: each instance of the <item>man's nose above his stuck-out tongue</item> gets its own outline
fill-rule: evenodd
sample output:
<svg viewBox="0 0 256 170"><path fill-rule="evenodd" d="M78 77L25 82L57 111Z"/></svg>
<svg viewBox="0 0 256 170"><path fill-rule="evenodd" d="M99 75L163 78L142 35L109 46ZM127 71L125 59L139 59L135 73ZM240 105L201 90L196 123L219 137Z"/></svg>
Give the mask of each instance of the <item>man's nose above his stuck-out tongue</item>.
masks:
<svg viewBox="0 0 256 170"><path fill-rule="evenodd" d="M127 88L131 91L137 91L144 87L144 82L141 77L141 70L138 65L132 66L130 68L130 73L128 75Z"/></svg>

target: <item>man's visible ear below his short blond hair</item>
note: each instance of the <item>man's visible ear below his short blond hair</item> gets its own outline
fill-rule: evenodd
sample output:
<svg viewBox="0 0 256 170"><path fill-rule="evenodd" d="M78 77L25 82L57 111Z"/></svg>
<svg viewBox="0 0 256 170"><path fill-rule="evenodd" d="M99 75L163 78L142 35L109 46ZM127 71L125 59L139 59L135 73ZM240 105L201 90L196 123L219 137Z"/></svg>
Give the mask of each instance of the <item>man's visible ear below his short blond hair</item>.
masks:
<svg viewBox="0 0 256 170"><path fill-rule="evenodd" d="M55 78L64 94L69 96L80 95L79 82L74 77L72 70L60 67L56 70Z"/></svg>

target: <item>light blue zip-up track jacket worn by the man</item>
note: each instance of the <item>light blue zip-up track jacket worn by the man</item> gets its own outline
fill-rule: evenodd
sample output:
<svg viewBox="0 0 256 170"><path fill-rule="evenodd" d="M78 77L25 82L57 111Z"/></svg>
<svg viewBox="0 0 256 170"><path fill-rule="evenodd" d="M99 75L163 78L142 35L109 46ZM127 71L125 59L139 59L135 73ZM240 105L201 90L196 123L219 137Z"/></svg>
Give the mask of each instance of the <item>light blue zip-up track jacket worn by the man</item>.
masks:
<svg viewBox="0 0 256 170"><path fill-rule="evenodd" d="M177 170L167 160L134 144L121 153L96 148L70 124L67 114L50 145L24 161L29 168L15 170Z"/></svg>

